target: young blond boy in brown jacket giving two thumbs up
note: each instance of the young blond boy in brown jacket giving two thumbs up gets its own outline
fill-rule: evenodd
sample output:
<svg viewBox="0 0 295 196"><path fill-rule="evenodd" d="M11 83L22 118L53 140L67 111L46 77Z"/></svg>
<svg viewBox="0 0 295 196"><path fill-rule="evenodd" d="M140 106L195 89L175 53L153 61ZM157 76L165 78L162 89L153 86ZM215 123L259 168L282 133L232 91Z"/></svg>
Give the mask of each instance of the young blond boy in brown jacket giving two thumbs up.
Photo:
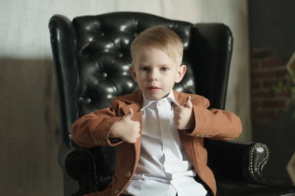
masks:
<svg viewBox="0 0 295 196"><path fill-rule="evenodd" d="M117 146L113 181L89 196L216 195L204 138L231 140L242 126L231 112L208 110L208 99L172 90L186 71L182 55L174 31L155 26L141 32L130 66L140 90L72 124L81 147Z"/></svg>

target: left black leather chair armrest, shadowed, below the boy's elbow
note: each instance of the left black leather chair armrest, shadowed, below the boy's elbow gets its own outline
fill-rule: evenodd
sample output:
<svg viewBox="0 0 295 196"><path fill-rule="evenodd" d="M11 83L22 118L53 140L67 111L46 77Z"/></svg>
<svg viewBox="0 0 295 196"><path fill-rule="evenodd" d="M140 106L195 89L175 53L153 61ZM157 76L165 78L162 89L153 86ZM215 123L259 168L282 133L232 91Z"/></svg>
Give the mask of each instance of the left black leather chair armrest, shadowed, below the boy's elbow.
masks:
<svg viewBox="0 0 295 196"><path fill-rule="evenodd" d="M103 191L110 184L116 167L115 151L115 147L81 148L72 140L61 144L59 165L77 181L78 190L73 196ZM106 166L110 170L105 170Z"/></svg>

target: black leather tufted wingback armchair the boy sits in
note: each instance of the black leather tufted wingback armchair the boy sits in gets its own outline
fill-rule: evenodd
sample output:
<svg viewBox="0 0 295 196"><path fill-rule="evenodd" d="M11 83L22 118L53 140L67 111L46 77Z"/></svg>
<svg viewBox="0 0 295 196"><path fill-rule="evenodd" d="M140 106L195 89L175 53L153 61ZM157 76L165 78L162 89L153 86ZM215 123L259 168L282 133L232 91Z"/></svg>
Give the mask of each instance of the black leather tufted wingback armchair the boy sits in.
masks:
<svg viewBox="0 0 295 196"><path fill-rule="evenodd" d="M158 16L117 12L70 21L54 15L49 22L59 93L62 145L59 165L77 181L73 196L104 190L115 169L115 147L80 148L70 125L92 111L109 107L111 99L138 90L129 73L130 45L144 29L162 25L184 43L187 73L174 89L210 100L224 109L233 37L223 24L190 24ZM205 139L208 166L215 174L217 196L293 196L295 188L263 178L269 149L262 143L239 144Z"/></svg>

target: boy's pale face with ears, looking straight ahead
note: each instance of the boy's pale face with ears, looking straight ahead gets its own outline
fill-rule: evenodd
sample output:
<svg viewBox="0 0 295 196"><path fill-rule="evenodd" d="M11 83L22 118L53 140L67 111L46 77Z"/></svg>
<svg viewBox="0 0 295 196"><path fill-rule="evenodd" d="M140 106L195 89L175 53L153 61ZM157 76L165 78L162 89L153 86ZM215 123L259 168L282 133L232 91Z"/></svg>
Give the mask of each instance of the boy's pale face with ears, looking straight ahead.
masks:
<svg viewBox="0 0 295 196"><path fill-rule="evenodd" d="M133 63L130 66L133 79L148 98L155 100L167 97L186 71L185 65L179 66L164 51L151 47L135 54Z"/></svg>

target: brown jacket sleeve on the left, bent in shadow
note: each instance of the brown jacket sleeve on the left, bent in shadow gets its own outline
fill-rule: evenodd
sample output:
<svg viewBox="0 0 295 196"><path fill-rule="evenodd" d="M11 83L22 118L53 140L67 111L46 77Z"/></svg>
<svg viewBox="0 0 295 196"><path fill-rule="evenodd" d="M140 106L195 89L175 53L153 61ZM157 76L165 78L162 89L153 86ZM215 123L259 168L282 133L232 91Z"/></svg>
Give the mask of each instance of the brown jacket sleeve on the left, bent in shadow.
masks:
<svg viewBox="0 0 295 196"><path fill-rule="evenodd" d="M112 100L112 107L92 112L79 118L71 125L74 142L80 147L116 146L108 139L111 127L122 117L118 117L118 104Z"/></svg>

